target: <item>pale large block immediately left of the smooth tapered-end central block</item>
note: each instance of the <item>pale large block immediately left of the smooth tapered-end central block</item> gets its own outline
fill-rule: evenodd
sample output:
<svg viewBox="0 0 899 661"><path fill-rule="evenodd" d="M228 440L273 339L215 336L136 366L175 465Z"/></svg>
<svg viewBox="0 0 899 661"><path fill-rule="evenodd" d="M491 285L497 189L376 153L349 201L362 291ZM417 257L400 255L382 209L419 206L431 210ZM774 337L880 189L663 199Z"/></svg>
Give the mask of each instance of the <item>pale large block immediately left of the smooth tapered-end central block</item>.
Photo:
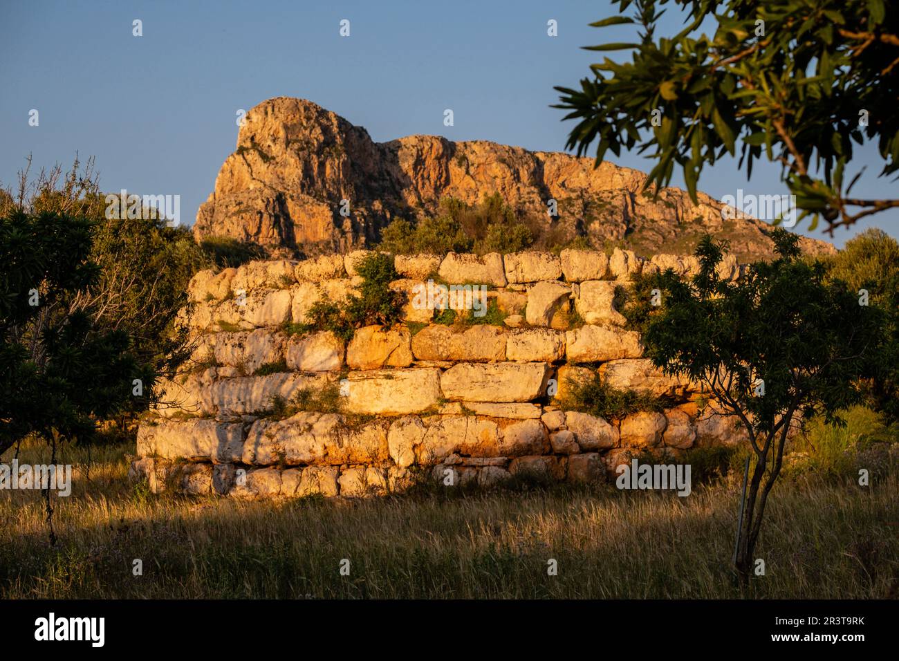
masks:
<svg viewBox="0 0 899 661"><path fill-rule="evenodd" d="M406 415L437 406L440 370L356 371L349 375L347 409L352 413Z"/></svg>

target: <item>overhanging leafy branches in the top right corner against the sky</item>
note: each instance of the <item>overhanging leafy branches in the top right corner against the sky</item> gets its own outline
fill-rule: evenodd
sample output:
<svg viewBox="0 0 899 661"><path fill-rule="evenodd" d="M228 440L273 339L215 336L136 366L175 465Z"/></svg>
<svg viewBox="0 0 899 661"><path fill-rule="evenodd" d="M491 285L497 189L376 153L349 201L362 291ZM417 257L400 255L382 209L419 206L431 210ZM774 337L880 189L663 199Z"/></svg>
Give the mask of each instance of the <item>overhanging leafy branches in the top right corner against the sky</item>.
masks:
<svg viewBox="0 0 899 661"><path fill-rule="evenodd" d="M590 50L630 50L632 60L592 65L581 89L556 87L565 120L579 120L567 147L583 155L598 140L597 165L611 151L639 146L656 159L647 187L671 182L682 168L690 196L705 166L740 150L752 176L762 153L782 165L799 219L848 227L899 200L853 197L861 171L847 166L853 143L877 141L878 176L899 170L899 15L883 0L672 0L687 15L683 30L656 38L668 0L618 0L624 13L596 27L633 23L638 43ZM714 22L709 37L703 25Z"/></svg>

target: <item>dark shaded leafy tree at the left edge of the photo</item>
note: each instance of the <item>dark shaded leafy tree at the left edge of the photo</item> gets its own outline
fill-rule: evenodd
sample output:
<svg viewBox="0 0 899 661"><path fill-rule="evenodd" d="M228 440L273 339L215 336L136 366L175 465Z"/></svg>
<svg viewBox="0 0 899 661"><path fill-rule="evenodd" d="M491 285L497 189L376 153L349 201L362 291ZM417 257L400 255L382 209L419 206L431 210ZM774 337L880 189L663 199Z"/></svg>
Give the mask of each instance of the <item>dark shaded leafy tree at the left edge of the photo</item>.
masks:
<svg viewBox="0 0 899 661"><path fill-rule="evenodd" d="M0 453L29 434L85 439L96 421L148 397L155 376L121 330L98 330L74 309L99 276L91 223L50 213L0 218Z"/></svg>

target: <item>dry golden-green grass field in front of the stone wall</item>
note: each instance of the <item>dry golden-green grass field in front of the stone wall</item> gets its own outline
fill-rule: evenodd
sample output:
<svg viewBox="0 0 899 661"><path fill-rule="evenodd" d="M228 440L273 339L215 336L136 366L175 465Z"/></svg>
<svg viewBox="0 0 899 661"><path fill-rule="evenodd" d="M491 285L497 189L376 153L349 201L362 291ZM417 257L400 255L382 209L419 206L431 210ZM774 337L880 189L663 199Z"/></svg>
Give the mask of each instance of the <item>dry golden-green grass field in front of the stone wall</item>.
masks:
<svg viewBox="0 0 899 661"><path fill-rule="evenodd" d="M730 569L736 480L691 496L534 487L281 503L153 496L127 445L67 449L72 496L0 492L3 598L883 598L899 596L899 476L798 474L771 497L742 594ZM11 457L4 457L4 461ZM49 460L22 448L19 460ZM139 558L143 576L133 576ZM340 567L348 559L349 576ZM547 575L547 561L557 576Z"/></svg>

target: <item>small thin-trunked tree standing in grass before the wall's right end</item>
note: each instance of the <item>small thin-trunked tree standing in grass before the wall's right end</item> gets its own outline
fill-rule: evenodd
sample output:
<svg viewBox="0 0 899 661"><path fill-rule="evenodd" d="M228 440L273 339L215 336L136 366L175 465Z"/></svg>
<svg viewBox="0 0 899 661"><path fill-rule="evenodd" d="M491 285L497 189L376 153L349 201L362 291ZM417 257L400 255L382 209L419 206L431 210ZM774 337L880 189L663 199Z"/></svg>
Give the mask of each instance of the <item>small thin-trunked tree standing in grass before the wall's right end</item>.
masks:
<svg viewBox="0 0 899 661"><path fill-rule="evenodd" d="M796 235L775 228L772 238L777 259L750 264L732 282L716 271L726 242L705 237L690 281L671 270L654 276L662 305L643 335L656 367L701 384L718 415L748 435L754 467L736 559L744 582L788 432L813 415L839 424L837 412L863 397L859 378L883 339L880 308L827 281L821 262L799 259Z"/></svg>

